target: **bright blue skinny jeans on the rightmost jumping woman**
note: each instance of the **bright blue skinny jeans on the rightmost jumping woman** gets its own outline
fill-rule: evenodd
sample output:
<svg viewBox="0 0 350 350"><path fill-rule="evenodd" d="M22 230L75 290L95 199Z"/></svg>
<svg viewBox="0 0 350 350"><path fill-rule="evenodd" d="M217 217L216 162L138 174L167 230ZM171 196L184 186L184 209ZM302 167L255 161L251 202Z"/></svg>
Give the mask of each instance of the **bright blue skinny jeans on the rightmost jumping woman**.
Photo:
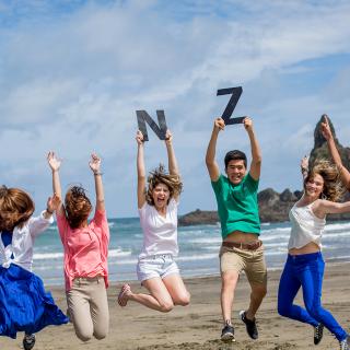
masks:
<svg viewBox="0 0 350 350"><path fill-rule="evenodd" d="M347 338L347 332L320 305L324 270L320 253L289 255L278 289L278 313L314 327L320 323L341 341ZM306 310L293 304L301 287Z"/></svg>

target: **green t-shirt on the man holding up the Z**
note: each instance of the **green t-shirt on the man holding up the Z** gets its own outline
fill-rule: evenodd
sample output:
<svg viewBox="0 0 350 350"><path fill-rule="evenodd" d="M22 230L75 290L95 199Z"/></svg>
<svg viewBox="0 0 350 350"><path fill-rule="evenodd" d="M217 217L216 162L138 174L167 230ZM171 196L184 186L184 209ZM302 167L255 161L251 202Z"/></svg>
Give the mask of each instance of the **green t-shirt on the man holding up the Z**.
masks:
<svg viewBox="0 0 350 350"><path fill-rule="evenodd" d="M258 185L259 180L255 180L249 173L238 185L232 184L223 175L217 182L211 182L218 202L222 238L233 231L260 234Z"/></svg>

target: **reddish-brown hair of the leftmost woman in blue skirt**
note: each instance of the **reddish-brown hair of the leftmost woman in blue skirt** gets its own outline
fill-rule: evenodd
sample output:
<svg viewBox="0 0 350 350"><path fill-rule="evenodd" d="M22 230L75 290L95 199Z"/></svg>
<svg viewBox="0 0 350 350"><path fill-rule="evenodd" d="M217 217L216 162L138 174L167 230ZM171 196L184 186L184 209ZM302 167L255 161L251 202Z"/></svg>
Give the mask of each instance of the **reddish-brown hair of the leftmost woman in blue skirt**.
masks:
<svg viewBox="0 0 350 350"><path fill-rule="evenodd" d="M23 189L0 187L0 231L13 231L15 226L21 226L34 210L34 201Z"/></svg>

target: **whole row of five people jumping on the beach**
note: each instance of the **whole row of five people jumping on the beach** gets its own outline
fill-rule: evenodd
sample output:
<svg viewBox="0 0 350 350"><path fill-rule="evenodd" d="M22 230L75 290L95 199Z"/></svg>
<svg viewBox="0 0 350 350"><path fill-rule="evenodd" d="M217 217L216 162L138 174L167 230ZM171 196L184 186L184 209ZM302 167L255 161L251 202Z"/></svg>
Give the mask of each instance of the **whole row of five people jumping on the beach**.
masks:
<svg viewBox="0 0 350 350"><path fill-rule="evenodd" d="M257 202L261 152L253 120L245 117L243 125L250 141L249 171L245 153L234 150L224 158L225 174L220 172L215 149L218 137L225 129L222 118L214 120L206 154L222 233L219 257L223 341L234 340L232 306L240 273L245 272L252 288L249 305L240 312L240 319L252 339L258 338L256 313L267 293ZM346 350L350 349L347 331L320 302L325 268L320 240L327 214L350 212L350 202L339 202L345 189L350 190L350 173L341 163L326 116L322 131L332 162L317 160L308 168L307 159L302 161L304 191L289 215L291 235L278 290L278 313L310 324L314 329L315 345L320 342L326 327L338 339L340 349ZM168 172L161 165L147 175L141 131L137 132L136 141L138 211L143 231L137 276L148 293L135 293L125 283L117 302L122 307L128 302L137 302L159 312L170 312L176 305L186 306L190 302L190 294L174 260L178 254L177 207L183 184L170 130L165 135ZM93 337L103 339L108 334L109 229L101 159L92 154L89 162L96 192L94 217L90 222L93 206L84 188L70 187L63 199L59 178L61 161L55 152L49 152L47 162L52 174L54 194L39 217L33 217L35 206L26 191L5 186L0 188L0 335L15 338L18 331L24 331L25 350L33 349L35 334L40 329L69 320L82 341ZM45 291L40 278L32 272L34 242L52 223L54 213L65 253L67 316ZM294 304L300 288L305 307Z"/></svg>

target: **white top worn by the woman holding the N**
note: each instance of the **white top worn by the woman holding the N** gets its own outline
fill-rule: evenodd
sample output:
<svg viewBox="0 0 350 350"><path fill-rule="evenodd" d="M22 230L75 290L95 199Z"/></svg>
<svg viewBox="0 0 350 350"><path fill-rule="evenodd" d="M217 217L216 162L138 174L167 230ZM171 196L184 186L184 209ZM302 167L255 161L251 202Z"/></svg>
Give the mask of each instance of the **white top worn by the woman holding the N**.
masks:
<svg viewBox="0 0 350 350"><path fill-rule="evenodd" d="M143 231L143 248L139 259L156 254L177 256L177 206L178 202L172 198L166 206L165 218L148 202L139 209Z"/></svg>

